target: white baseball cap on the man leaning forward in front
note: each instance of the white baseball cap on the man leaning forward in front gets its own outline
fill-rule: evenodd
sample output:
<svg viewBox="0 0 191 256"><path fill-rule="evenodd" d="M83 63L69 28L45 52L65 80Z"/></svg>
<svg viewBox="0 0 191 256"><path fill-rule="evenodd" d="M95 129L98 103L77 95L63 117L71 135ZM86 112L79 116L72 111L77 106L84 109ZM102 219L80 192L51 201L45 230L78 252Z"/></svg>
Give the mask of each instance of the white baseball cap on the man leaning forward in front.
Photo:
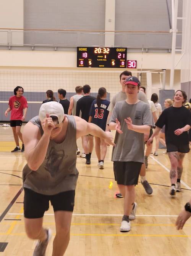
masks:
<svg viewBox="0 0 191 256"><path fill-rule="evenodd" d="M46 114L49 114L50 117L58 117L58 124L60 124L64 119L64 109L62 104L57 101L43 103L39 109L39 119L41 122L46 118Z"/></svg>

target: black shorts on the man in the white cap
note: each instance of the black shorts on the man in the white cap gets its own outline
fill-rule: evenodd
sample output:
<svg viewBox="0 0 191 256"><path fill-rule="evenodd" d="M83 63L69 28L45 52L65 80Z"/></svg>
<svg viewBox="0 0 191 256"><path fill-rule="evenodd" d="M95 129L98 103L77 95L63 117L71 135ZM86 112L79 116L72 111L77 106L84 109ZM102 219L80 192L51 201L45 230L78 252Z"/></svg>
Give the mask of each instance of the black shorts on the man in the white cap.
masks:
<svg viewBox="0 0 191 256"><path fill-rule="evenodd" d="M42 218L49 210L49 201L54 211L73 211L75 190L56 195L42 195L24 188L24 217L28 219Z"/></svg>

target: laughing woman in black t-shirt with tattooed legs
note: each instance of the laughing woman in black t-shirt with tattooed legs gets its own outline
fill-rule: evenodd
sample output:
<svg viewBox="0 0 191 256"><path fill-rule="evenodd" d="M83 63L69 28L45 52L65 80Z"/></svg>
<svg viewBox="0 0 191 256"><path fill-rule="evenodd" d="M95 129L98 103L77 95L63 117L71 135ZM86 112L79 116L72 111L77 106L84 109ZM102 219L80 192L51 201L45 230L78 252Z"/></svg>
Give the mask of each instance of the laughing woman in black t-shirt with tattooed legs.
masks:
<svg viewBox="0 0 191 256"><path fill-rule="evenodd" d="M165 125L167 153L171 164L171 196L175 196L176 192L181 190L180 179L183 172L183 159L185 153L189 152L188 130L191 128L191 112L183 106L186 99L187 96L184 91L175 92L173 106L162 112L155 124L155 132L147 142L150 145L153 138L159 134Z"/></svg>

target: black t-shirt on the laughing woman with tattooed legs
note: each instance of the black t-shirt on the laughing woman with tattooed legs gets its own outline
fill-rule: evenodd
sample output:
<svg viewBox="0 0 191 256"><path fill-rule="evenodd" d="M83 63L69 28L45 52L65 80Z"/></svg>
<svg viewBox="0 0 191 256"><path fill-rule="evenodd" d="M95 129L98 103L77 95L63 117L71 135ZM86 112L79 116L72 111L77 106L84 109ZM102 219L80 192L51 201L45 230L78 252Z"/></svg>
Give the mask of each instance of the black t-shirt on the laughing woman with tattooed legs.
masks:
<svg viewBox="0 0 191 256"><path fill-rule="evenodd" d="M186 125L191 126L191 112L186 107L168 107L159 116L156 126L162 128L165 125L166 143L174 145L189 144L188 132L175 135L175 130Z"/></svg>

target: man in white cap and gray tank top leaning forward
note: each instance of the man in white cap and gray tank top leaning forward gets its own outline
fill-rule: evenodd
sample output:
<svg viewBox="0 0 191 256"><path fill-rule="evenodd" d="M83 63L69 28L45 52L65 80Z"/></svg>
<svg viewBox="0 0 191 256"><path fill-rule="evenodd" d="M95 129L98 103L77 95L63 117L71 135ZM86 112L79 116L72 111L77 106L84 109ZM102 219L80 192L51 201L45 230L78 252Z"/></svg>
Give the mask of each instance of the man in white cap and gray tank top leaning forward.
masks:
<svg viewBox="0 0 191 256"><path fill-rule="evenodd" d="M65 115L62 105L55 101L42 104L39 116L24 127L24 222L28 237L38 239L33 256L45 255L51 237L50 230L42 226L49 201L56 225L52 255L62 256L66 251L78 179L76 139L87 134L114 145L110 132L80 117Z"/></svg>

